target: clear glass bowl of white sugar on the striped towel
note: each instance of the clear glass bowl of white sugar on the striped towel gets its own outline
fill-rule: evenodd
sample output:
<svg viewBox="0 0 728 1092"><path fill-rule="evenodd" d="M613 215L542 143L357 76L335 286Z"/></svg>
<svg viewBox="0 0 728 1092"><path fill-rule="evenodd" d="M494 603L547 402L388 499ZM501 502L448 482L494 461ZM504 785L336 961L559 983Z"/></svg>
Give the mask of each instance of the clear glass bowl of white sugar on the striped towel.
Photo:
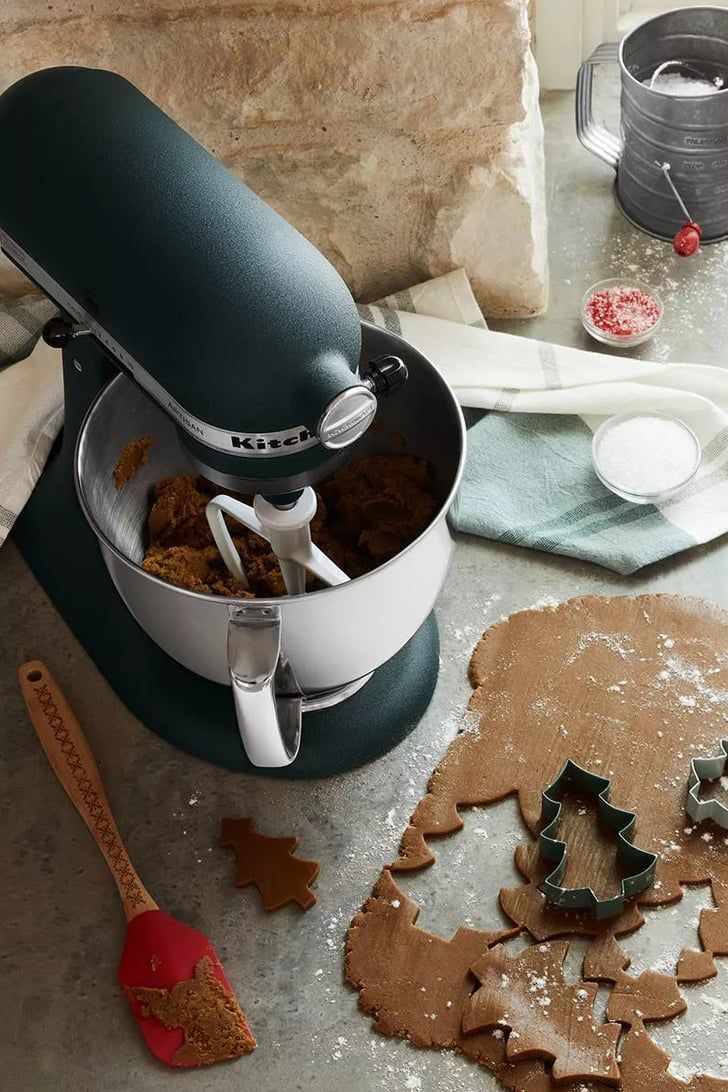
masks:
<svg viewBox="0 0 728 1092"><path fill-rule="evenodd" d="M599 480L634 505L657 505L677 497L695 477L701 455L692 428L666 413L608 417L592 441Z"/></svg>

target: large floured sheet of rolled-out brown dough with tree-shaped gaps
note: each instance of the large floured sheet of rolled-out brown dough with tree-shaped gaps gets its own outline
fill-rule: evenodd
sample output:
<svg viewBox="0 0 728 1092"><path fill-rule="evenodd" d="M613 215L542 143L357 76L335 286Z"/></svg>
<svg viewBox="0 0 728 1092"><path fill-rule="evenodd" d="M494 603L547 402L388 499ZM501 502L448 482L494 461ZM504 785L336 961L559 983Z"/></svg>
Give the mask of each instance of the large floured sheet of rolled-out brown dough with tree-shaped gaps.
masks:
<svg viewBox="0 0 728 1092"><path fill-rule="evenodd" d="M577 598L521 612L488 630L470 662L474 693L464 731L432 774L398 858L384 868L349 928L347 978L379 1030L421 1045L455 1047L492 1070L506 1088L546 1092L552 1087L548 1063L509 1061L505 1036L463 1033L463 1011L477 989L469 968L478 965L485 951L465 966L462 936L472 930L461 928L447 941L419 929L418 906L396 883L397 871L434 862L432 839L462 829L458 808L485 807L516 794L533 841L515 854L525 882L502 890L501 906L514 927L536 941L594 938L580 988L588 988L592 980L611 989L607 1019L628 1029L619 1049L621 1087L629 1092L728 1092L728 1081L717 1078L696 1075L685 1083L669 1075L669 1057L644 1029L646 1020L681 1011L679 981L715 974L714 957L728 954L726 832L709 821L695 824L684 814L690 759L715 753L726 735L727 649L728 612L668 595ZM655 885L619 917L597 922L583 912L548 906L538 890L550 867L538 853L540 793L568 758L611 779L610 799L637 814L635 843L659 856ZM608 890L618 880L613 853L595 853L594 817L583 811L583 802L564 798L559 836L569 841L569 883ZM612 839L610 844L613 850ZM679 900L681 883L707 882L715 909L701 912L700 950L684 949L672 975L649 971L630 977L616 938L643 924L640 906ZM488 894L485 887L484 903ZM508 941L500 922L493 922L490 935L479 936L492 937L487 943L481 940L484 948ZM422 1034L426 995L402 963L413 950L422 960L423 946L437 946L437 976L447 982L453 1001L446 1033L433 1008L429 1035ZM568 1034L568 1029L561 1033ZM469 1044L470 1037L477 1042ZM560 1043L554 1038L554 1057L561 1054L563 1038ZM589 1082L589 1089L602 1087Z"/></svg>

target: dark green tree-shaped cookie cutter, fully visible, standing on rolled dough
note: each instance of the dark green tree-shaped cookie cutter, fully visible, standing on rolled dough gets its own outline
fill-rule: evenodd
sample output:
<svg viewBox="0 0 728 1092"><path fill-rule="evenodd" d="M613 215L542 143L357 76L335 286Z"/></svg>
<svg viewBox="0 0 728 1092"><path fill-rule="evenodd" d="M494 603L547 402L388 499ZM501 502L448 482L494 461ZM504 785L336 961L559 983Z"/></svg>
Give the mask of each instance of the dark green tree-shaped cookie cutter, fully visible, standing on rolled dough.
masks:
<svg viewBox="0 0 728 1092"><path fill-rule="evenodd" d="M538 847L542 857L556 862L540 886L548 902L562 910L590 910L597 918L613 917L624 910L624 902L645 891L655 878L657 855L632 844L636 816L609 803L611 782L568 759L554 781L541 793L541 828ZM562 887L566 871L566 843L554 838L561 817L561 797L568 790L581 790L594 796L600 822L617 834L617 856L625 875L619 894L600 899L588 887Z"/></svg>

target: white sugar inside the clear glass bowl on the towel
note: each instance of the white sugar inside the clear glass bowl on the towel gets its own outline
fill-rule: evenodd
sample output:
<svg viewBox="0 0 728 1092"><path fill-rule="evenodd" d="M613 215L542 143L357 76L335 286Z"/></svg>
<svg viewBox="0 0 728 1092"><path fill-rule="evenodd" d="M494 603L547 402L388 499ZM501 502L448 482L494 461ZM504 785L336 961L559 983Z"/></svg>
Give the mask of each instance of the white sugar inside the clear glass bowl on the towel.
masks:
<svg viewBox="0 0 728 1092"><path fill-rule="evenodd" d="M658 496L675 489L690 476L699 458L696 441L687 426L651 414L612 425L596 450L602 476L635 496Z"/></svg>

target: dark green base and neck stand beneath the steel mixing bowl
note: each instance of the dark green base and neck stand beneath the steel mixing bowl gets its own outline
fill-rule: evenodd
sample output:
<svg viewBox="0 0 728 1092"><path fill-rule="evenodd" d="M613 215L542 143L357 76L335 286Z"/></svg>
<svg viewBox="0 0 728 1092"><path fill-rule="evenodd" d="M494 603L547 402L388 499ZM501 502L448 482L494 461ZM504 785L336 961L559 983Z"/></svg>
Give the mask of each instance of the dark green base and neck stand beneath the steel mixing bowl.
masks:
<svg viewBox="0 0 728 1092"><path fill-rule="evenodd" d="M91 343L92 339L83 339ZM114 376L88 344L64 354L65 429L12 538L57 609L127 708L168 743L228 770L270 778L325 778L363 765L416 727L438 677L439 639L430 615L411 640L359 691L306 713L296 761L250 764L229 687L210 682L159 649L118 595L73 486L73 448L86 406ZM53 666L52 649L35 655Z"/></svg>

